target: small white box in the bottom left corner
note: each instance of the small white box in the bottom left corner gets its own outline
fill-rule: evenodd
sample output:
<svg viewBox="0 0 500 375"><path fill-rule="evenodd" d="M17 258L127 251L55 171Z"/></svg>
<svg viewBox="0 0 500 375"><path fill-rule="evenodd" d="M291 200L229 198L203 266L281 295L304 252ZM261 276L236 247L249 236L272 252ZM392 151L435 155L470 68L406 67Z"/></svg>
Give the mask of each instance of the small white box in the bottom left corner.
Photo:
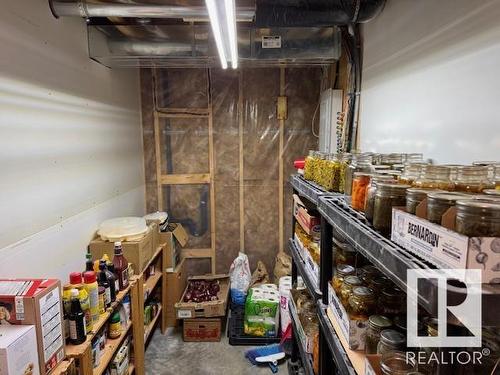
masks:
<svg viewBox="0 0 500 375"><path fill-rule="evenodd" d="M0 325L0 374L40 374L35 326Z"/></svg>

